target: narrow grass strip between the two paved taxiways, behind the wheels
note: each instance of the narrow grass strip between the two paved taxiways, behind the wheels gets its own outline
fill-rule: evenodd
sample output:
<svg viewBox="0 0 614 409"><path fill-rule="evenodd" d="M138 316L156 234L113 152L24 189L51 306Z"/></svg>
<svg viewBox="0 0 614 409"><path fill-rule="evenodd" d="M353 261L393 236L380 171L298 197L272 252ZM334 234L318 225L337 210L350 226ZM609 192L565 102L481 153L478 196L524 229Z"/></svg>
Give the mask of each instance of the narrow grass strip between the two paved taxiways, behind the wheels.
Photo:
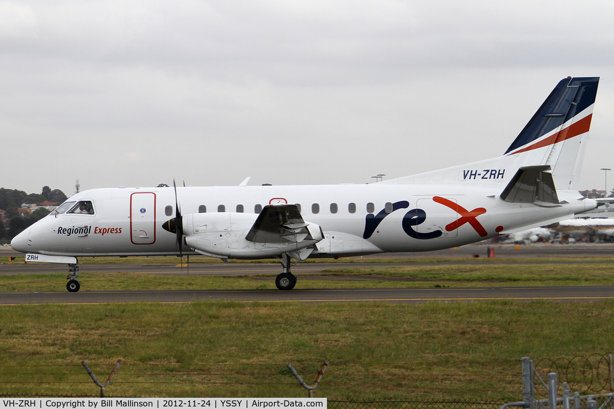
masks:
<svg viewBox="0 0 614 409"><path fill-rule="evenodd" d="M212 277L203 275L158 275L155 273L89 273L82 266L80 291L128 289L275 289L271 280L257 276ZM177 272L180 271L176 267ZM281 270L281 269L280 269ZM144 272L147 267L144 267ZM298 275L297 288L427 288L488 286L614 285L614 264L451 264L435 266L386 266L326 269L322 276L381 277L381 280L311 281ZM264 276L260 275L260 277ZM387 281L387 277L406 278ZM305 277L303 277L305 278ZM66 274L0 275L0 291L66 291Z"/></svg>

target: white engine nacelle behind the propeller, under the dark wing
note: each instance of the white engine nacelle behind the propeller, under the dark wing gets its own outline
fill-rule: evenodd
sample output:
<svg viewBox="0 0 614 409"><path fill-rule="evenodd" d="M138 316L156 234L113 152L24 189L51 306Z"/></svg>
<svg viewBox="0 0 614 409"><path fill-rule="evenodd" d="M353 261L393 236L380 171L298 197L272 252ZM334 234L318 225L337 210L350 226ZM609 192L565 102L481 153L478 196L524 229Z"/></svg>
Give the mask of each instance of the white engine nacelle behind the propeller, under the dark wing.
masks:
<svg viewBox="0 0 614 409"><path fill-rule="evenodd" d="M184 215L185 243L197 253L217 258L262 259L290 253L304 260L311 254L308 247L324 239L320 226L310 223L302 233L269 237L266 242L246 240L257 218L254 213L232 212Z"/></svg>

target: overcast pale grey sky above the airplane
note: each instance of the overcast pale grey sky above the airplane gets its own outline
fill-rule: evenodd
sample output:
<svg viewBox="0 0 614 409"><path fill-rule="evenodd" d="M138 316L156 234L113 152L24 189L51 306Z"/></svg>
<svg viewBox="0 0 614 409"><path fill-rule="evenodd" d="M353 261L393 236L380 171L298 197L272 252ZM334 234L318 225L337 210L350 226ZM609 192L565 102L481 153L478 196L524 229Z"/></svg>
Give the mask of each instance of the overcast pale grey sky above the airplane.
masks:
<svg viewBox="0 0 614 409"><path fill-rule="evenodd" d="M603 189L613 22L612 0L0 0L0 187L402 177L501 155L571 75L602 78L580 187Z"/></svg>

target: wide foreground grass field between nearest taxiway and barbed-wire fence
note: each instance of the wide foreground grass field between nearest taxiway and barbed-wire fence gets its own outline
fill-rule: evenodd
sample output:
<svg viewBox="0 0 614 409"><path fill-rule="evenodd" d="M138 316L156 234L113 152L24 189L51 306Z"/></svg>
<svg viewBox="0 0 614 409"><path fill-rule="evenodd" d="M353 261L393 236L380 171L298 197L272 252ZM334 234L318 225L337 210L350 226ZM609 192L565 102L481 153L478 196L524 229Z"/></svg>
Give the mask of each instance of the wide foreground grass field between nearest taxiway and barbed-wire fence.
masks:
<svg viewBox="0 0 614 409"><path fill-rule="evenodd" d="M522 399L519 359L603 354L614 303L19 305L0 307L4 394ZM559 381L564 379L559 378Z"/></svg>

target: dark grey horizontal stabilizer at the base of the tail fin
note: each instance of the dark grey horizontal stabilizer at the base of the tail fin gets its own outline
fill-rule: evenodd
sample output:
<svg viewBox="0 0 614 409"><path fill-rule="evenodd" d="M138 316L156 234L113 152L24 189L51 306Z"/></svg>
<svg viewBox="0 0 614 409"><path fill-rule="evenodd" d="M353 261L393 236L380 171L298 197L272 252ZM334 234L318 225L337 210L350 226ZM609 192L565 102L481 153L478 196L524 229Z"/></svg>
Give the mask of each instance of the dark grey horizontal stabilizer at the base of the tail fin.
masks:
<svg viewBox="0 0 614 409"><path fill-rule="evenodd" d="M505 186L500 197L510 203L533 203L545 207L559 205L548 165L523 166Z"/></svg>

